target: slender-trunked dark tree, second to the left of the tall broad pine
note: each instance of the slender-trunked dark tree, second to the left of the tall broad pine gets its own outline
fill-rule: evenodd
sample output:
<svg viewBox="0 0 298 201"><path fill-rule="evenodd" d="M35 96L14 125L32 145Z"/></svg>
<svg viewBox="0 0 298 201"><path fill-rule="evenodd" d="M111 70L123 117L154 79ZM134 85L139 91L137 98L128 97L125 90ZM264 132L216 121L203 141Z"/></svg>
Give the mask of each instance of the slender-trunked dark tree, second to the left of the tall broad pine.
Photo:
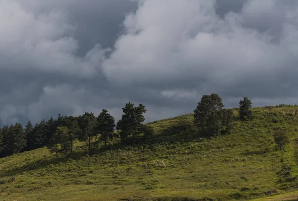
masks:
<svg viewBox="0 0 298 201"><path fill-rule="evenodd" d="M78 126L81 130L78 139L80 141L87 142L88 152L90 153L92 139L97 136L97 132L95 130L96 117L93 113L85 112L85 114L78 117Z"/></svg>

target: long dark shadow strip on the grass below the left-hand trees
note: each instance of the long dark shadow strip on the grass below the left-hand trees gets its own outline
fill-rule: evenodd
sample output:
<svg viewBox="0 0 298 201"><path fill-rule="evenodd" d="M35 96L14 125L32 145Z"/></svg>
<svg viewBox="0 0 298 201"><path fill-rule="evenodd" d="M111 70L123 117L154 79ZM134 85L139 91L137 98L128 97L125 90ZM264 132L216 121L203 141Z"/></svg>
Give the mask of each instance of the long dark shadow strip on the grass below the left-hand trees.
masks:
<svg viewBox="0 0 298 201"><path fill-rule="evenodd" d="M69 159L78 160L81 157L85 156L86 154L87 154L86 151L81 151L81 152L75 152L72 155L69 155L68 157L62 156L62 157L49 158L49 159L42 158L37 161L27 163L23 166L14 167L12 169L2 171L2 172L0 172L0 177L13 176L13 175L17 175L17 174L22 174L24 172L28 172L30 170L38 170L38 169L46 168L48 165L56 165L59 163L65 163Z"/></svg>

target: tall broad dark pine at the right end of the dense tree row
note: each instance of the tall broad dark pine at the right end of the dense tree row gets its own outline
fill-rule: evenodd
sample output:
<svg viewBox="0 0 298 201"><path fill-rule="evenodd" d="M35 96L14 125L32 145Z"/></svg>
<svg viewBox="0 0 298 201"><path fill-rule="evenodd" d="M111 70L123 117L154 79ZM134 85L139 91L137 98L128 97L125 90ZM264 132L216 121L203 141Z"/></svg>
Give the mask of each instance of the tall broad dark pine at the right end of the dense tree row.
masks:
<svg viewBox="0 0 298 201"><path fill-rule="evenodd" d="M117 123L117 130L121 130L121 143L125 144L128 142L130 135L135 139L139 134L144 133L144 125L142 123L145 121L145 118L143 114L147 110L143 104L134 107L134 103L131 102L126 103L122 110L124 115Z"/></svg>

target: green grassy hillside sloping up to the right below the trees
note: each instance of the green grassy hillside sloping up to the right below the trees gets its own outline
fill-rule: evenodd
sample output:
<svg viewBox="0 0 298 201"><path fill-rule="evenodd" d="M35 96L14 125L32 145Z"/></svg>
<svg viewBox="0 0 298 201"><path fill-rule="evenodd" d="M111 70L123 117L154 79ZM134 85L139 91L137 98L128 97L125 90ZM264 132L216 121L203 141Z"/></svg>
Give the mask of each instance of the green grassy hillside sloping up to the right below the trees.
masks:
<svg viewBox="0 0 298 201"><path fill-rule="evenodd" d="M196 136L193 116L149 123L155 135L144 143L88 156L76 142L70 158L40 148L0 159L0 201L227 201L296 200L298 107L254 108L254 120L232 134ZM278 150L274 130L290 134ZM282 167L291 167L286 180Z"/></svg>

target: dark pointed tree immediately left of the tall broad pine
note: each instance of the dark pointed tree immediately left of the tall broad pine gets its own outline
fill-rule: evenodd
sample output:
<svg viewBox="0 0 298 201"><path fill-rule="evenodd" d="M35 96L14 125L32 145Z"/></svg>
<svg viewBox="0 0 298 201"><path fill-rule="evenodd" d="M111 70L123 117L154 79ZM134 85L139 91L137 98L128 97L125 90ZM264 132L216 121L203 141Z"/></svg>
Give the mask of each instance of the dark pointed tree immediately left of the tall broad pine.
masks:
<svg viewBox="0 0 298 201"><path fill-rule="evenodd" d="M107 145L107 140L113 138L113 132L115 128L115 119L111 116L107 110L103 109L98 115L97 119L97 132L101 134L104 146Z"/></svg>

